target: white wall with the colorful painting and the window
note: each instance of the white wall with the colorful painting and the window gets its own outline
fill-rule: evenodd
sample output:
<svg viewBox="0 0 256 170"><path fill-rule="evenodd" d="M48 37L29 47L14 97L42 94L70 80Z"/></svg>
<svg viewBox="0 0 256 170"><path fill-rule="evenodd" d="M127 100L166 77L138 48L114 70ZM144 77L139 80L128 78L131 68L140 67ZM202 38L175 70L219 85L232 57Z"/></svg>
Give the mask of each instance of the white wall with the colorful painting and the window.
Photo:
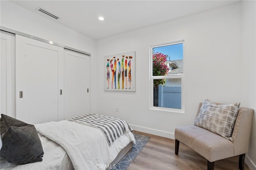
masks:
<svg viewBox="0 0 256 170"><path fill-rule="evenodd" d="M185 113L150 110L150 45L178 40L185 40ZM193 124L198 103L204 99L241 101L241 42L240 4L98 40L92 59L93 67L100 66L92 72L97 113L123 118L135 130L174 138L176 127ZM136 92L104 91L103 56L128 51L136 51Z"/></svg>

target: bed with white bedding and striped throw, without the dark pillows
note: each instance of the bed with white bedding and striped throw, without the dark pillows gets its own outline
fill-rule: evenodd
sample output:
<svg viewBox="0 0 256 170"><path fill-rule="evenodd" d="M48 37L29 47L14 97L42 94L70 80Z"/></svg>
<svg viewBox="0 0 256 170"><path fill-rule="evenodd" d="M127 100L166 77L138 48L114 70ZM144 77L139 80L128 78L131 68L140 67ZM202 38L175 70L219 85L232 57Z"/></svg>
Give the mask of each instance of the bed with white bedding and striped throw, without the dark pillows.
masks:
<svg viewBox="0 0 256 170"><path fill-rule="evenodd" d="M109 127L105 122L105 119L112 120L113 118L97 114L87 114L89 119L98 116L104 117L104 121L88 122L88 119L86 119L86 123L81 123L79 121L85 119L85 115L81 115L81 119L75 117L59 122L34 125L42 143L44 152L42 161L16 165L3 159L1 160L0 168L4 170L99 170L114 168L115 164L135 144L134 135L128 124L128 126L125 125L126 132L121 134L120 130L117 130L119 132L114 134L112 130L114 127ZM122 119L120 120L123 121ZM108 127L106 128L107 131L110 131L107 134L108 136L104 134L101 128L95 128L95 125L92 125L96 124L96 126L99 126L100 122L103 122L102 124ZM111 124L114 125L113 122ZM116 127L116 129L118 128ZM110 139L110 134L112 134L112 138L116 139L112 141L107 140L107 137Z"/></svg>

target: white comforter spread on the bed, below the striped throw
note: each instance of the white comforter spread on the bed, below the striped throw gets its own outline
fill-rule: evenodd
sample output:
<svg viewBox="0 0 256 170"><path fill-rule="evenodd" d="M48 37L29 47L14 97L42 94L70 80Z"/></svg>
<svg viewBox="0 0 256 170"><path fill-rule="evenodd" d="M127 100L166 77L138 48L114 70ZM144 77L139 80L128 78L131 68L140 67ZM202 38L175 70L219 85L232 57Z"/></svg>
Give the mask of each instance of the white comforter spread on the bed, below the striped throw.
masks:
<svg viewBox="0 0 256 170"><path fill-rule="evenodd" d="M128 132L108 146L99 129L66 120L35 127L67 151L76 170L106 169L122 148L129 142L135 143L132 132Z"/></svg>

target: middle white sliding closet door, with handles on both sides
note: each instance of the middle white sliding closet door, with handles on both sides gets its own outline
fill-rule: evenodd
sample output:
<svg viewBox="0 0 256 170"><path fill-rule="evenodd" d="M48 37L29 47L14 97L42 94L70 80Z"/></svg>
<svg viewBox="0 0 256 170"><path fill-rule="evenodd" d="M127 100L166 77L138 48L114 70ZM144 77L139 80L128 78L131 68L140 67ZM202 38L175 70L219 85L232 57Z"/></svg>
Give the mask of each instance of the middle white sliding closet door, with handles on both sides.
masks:
<svg viewBox="0 0 256 170"><path fill-rule="evenodd" d="M16 35L16 118L36 124L64 119L64 49Z"/></svg>

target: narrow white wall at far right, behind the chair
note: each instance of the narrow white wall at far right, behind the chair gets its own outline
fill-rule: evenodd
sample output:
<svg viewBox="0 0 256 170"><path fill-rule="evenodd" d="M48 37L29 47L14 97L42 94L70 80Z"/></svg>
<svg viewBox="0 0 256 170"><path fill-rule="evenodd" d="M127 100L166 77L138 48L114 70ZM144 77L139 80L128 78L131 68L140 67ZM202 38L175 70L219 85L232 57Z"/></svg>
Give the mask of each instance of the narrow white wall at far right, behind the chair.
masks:
<svg viewBox="0 0 256 170"><path fill-rule="evenodd" d="M242 104L256 110L256 1L242 2ZM246 163L256 170L256 116L254 112Z"/></svg>

